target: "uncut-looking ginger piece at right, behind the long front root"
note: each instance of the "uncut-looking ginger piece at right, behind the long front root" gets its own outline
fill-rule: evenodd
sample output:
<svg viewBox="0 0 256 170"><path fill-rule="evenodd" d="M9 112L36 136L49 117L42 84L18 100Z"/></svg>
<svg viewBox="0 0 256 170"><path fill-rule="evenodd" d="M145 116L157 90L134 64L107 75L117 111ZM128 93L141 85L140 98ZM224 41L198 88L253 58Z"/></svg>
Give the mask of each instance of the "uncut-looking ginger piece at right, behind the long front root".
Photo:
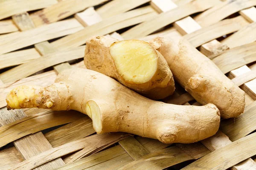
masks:
<svg viewBox="0 0 256 170"><path fill-rule="evenodd" d="M224 119L244 111L244 91L207 57L178 36L150 41L166 59L175 80L202 105L213 103Z"/></svg>

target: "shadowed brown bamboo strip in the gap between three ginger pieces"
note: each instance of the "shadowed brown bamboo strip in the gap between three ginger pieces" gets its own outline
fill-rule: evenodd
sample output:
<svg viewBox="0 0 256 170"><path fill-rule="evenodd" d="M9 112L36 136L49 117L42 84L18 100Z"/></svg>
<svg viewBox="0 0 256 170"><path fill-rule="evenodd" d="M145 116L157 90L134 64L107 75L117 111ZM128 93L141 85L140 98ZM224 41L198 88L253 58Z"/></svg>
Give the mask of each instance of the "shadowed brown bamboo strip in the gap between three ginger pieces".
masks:
<svg viewBox="0 0 256 170"><path fill-rule="evenodd" d="M163 99L163 102L174 104L174 105L183 105L186 102L190 102L192 100L195 100L195 99L189 93L185 93L177 97L170 97L170 98Z"/></svg>

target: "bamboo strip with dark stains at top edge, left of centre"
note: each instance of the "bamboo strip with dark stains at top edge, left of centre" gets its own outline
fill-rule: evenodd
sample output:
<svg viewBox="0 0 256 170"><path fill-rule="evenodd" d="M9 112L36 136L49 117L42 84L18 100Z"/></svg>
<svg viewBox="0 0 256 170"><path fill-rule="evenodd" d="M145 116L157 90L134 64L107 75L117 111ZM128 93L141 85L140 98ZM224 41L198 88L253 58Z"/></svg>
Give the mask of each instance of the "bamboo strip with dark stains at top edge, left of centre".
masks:
<svg viewBox="0 0 256 170"><path fill-rule="evenodd" d="M35 26L41 26L62 20L76 12L105 1L107 0L65 0L31 14L31 19Z"/></svg>

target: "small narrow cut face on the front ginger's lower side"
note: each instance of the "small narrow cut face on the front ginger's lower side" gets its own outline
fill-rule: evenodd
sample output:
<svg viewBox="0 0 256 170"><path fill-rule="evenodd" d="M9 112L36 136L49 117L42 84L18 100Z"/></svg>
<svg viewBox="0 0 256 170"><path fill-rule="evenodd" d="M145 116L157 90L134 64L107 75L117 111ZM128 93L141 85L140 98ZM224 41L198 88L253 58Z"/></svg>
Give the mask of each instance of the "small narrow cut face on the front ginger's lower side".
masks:
<svg viewBox="0 0 256 170"><path fill-rule="evenodd" d="M90 100L85 105L86 114L93 120L93 129L97 133L102 132L102 122L99 106L93 100Z"/></svg>

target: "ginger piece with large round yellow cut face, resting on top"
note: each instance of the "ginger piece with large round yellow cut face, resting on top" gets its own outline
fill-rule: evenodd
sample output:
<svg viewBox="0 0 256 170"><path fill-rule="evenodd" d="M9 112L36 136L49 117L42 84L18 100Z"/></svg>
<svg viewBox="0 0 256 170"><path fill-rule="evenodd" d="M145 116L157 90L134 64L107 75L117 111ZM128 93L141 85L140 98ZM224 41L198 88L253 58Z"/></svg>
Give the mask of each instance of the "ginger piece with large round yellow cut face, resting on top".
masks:
<svg viewBox="0 0 256 170"><path fill-rule="evenodd" d="M166 60L142 40L90 38L86 42L84 64L150 99L163 99L175 90Z"/></svg>

